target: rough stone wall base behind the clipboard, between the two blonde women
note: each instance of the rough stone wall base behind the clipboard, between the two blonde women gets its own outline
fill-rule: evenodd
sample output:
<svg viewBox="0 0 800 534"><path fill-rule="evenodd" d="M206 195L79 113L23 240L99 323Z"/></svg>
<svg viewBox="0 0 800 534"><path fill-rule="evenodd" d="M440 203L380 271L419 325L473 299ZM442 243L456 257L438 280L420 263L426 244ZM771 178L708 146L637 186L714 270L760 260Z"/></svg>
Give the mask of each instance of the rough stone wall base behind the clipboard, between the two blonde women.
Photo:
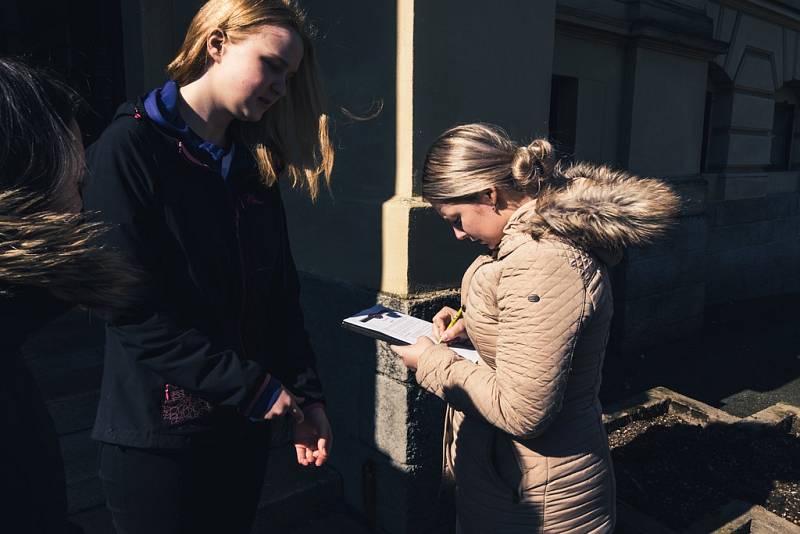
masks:
<svg viewBox="0 0 800 534"><path fill-rule="evenodd" d="M385 343L340 323L376 302L429 318L456 304L456 292L400 299L307 274L301 282L335 430L331 465L342 476L345 501L381 532L446 528L453 509L439 506L444 403L417 387Z"/></svg>

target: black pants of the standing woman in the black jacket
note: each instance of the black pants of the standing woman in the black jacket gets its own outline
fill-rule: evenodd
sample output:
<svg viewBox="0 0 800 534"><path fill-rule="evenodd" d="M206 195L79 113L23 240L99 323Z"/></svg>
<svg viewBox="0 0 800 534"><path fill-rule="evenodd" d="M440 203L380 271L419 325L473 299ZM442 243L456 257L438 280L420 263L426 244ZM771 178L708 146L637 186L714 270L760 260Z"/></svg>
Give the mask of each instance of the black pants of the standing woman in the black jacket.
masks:
<svg viewBox="0 0 800 534"><path fill-rule="evenodd" d="M198 435L185 449L103 443L100 480L117 534L249 534L269 432Z"/></svg>

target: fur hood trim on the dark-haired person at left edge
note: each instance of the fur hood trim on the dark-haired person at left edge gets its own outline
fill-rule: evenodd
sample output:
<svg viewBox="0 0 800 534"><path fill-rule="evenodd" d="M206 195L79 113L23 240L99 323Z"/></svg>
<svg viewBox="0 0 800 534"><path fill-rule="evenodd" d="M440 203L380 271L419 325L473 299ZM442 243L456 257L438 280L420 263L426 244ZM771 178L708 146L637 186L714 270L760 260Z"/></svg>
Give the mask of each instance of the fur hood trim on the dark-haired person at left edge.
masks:
<svg viewBox="0 0 800 534"><path fill-rule="evenodd" d="M33 286L98 310L132 306L139 273L94 244L104 227L36 204L19 191L0 191L0 296Z"/></svg>

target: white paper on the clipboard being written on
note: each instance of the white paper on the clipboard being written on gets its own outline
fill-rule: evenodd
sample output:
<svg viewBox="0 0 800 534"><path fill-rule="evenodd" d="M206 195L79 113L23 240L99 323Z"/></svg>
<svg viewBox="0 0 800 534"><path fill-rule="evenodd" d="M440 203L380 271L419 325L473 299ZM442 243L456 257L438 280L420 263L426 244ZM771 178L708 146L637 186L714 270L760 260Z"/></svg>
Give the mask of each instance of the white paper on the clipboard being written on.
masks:
<svg viewBox="0 0 800 534"><path fill-rule="evenodd" d="M352 317L348 317L343 322L358 326L359 328L381 332L408 344L416 343L417 339L422 336L427 336L434 343L436 342L436 340L431 337L433 323L386 308L380 304L362 310ZM475 349L450 347L450 350L465 360L478 363L478 352Z"/></svg>

